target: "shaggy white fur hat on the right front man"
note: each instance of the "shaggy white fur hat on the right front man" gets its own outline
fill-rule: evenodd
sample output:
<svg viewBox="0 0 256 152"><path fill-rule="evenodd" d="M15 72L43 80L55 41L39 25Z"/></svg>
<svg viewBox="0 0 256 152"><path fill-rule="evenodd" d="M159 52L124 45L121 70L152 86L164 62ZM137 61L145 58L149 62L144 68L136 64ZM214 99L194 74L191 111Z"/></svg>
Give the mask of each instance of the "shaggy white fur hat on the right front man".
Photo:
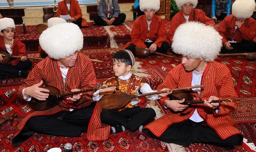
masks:
<svg viewBox="0 0 256 152"><path fill-rule="evenodd" d="M172 49L190 58L213 61L222 47L222 36L212 26L199 22L181 24L175 31Z"/></svg>

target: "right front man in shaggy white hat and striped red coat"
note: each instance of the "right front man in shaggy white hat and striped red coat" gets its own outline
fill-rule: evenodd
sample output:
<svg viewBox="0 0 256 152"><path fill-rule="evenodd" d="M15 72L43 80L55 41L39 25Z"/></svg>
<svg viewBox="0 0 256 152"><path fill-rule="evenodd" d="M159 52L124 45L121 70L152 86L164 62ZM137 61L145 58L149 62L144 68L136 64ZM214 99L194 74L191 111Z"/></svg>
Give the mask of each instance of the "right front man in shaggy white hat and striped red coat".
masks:
<svg viewBox="0 0 256 152"><path fill-rule="evenodd" d="M168 73L157 90L204 85L189 90L194 100L204 103L188 106L182 104L185 99L161 98L160 104L170 111L148 124L146 134L182 146L205 143L232 149L242 144L243 137L229 116L239 102L211 103L238 98L228 67L214 62L220 52L221 38L213 27L198 22L184 23L177 28L172 47L182 55L182 62Z"/></svg>

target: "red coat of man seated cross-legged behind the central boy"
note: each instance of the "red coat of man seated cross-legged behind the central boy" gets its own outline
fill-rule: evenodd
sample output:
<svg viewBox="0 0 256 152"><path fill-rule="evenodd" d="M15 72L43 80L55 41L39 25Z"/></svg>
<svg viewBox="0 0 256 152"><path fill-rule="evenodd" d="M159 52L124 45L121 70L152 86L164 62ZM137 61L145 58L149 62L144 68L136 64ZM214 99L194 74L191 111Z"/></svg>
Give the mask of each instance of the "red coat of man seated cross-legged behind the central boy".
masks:
<svg viewBox="0 0 256 152"><path fill-rule="evenodd" d="M154 43L159 48L161 47L162 42L166 41L167 38L167 32L162 18L154 15L150 24L150 31L148 32L148 24L145 15L138 17L132 26L132 42L128 42L125 47L135 44L140 48L146 48L147 46L144 42L147 39L147 35L149 40L156 40Z"/></svg>

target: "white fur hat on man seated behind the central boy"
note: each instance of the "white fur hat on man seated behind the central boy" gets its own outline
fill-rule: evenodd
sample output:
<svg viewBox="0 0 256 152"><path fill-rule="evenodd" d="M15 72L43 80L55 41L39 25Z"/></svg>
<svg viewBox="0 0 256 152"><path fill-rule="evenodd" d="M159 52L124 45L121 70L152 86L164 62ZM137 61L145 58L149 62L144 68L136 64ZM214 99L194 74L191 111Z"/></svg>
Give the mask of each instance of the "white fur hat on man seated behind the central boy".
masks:
<svg viewBox="0 0 256 152"><path fill-rule="evenodd" d="M153 9L156 12L160 9L160 0L140 0L140 10Z"/></svg>

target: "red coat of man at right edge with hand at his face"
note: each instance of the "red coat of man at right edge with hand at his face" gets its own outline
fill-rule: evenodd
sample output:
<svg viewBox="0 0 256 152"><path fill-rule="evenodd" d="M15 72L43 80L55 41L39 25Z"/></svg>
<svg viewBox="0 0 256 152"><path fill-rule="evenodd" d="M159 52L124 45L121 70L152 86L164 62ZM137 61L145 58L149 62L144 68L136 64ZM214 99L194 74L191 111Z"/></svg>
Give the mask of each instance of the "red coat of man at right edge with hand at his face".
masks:
<svg viewBox="0 0 256 152"><path fill-rule="evenodd" d="M241 42L242 40L253 40L256 37L256 21L250 17L244 20L244 24L240 28L235 30L236 17L232 14L226 16L220 23L218 29L222 36L222 43L226 43L229 40Z"/></svg>

